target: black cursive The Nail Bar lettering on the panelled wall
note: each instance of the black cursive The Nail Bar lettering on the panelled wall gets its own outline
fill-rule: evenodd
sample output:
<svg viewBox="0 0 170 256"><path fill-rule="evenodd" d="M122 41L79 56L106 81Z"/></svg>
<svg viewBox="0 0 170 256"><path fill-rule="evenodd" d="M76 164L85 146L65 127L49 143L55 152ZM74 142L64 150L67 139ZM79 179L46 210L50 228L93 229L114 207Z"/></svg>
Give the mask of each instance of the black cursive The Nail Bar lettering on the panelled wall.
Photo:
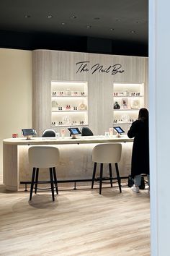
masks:
<svg viewBox="0 0 170 256"><path fill-rule="evenodd" d="M106 73L106 74L117 74L125 72L124 69L122 69L121 64L114 64L112 66L104 67L103 65L97 63L91 66L90 61L80 61L76 62L77 70L76 73L81 72L91 72L91 74L94 73Z"/></svg>

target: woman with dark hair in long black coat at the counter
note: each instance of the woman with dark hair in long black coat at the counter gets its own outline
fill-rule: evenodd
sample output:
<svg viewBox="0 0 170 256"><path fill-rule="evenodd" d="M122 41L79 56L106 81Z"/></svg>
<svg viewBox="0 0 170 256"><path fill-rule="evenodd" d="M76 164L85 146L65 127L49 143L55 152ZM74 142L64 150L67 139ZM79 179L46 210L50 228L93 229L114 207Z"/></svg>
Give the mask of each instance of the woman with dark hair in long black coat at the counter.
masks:
<svg viewBox="0 0 170 256"><path fill-rule="evenodd" d="M134 179L134 192L139 192L140 174L148 175L149 185L149 138L148 138L148 110L140 108L138 120L133 121L128 131L128 137L133 138L133 153L131 175Z"/></svg>

